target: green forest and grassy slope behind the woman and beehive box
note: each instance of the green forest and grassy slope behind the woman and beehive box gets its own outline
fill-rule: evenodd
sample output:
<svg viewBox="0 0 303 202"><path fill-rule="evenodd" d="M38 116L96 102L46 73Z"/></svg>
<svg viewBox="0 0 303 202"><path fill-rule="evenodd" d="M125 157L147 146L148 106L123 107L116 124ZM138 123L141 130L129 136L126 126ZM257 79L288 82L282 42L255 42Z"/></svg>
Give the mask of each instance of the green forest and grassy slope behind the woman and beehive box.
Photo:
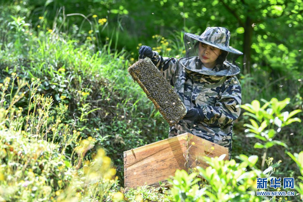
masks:
<svg viewBox="0 0 303 202"><path fill-rule="evenodd" d="M244 53L237 60L243 109L234 122L233 158L258 156L255 166L264 170L271 157L281 160L275 176L300 175L287 152L299 153L303 143L301 0L25 0L1 1L0 8L0 83L9 92L1 107L8 110L4 118L12 117L4 128L24 138L28 132L50 138L70 167L89 164L103 148L122 186L123 151L168 137L168 123L128 76L138 48L181 58L184 32L201 35L221 26L231 31L230 45ZM28 90L15 98L22 92L19 79ZM31 99L48 114L40 117ZM18 117L19 125L13 121ZM76 161L74 153L83 159Z"/></svg>

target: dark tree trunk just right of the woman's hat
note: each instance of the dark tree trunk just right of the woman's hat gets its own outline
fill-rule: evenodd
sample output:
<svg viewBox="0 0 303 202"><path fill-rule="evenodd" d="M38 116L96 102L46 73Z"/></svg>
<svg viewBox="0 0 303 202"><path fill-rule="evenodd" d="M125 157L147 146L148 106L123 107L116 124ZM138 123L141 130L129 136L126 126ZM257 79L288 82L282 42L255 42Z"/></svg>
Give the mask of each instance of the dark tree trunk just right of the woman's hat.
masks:
<svg viewBox="0 0 303 202"><path fill-rule="evenodd" d="M244 32L244 44L243 44L243 52L244 59L243 63L243 73L249 74L251 69L251 41L252 41L252 20L250 18L249 12L245 21L245 32Z"/></svg>

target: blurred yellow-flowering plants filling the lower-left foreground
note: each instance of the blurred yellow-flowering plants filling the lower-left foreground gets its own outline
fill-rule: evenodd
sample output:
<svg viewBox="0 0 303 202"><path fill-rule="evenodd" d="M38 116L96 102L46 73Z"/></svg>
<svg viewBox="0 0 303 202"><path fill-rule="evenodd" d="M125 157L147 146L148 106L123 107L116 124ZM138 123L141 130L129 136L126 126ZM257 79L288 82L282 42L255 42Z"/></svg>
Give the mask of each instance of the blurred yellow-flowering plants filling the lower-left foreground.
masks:
<svg viewBox="0 0 303 202"><path fill-rule="evenodd" d="M8 87L13 89L16 78L18 90L12 92ZM50 108L52 98L38 94L37 84L25 83L14 74L1 85L2 101L4 97L11 97L11 101L1 102L0 106L0 200L111 199L118 193L111 159L99 149L91 162L83 161L95 140L89 137L78 141L79 133L72 131L72 125L61 123L65 106L60 103ZM24 89L25 85L28 89ZM24 117L25 109L15 105L25 97L22 91L26 90L31 96L27 100L28 115ZM57 119L49 118L54 113ZM66 148L73 145L72 154L66 155Z"/></svg>

